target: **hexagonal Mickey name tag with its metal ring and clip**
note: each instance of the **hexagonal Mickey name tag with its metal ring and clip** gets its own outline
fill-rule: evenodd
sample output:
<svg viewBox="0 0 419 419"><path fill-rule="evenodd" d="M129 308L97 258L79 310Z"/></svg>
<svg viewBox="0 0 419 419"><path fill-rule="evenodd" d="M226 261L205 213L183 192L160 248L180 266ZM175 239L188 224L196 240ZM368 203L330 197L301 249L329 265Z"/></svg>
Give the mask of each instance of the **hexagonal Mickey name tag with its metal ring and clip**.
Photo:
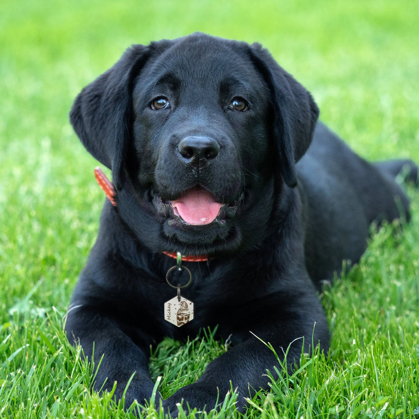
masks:
<svg viewBox="0 0 419 419"><path fill-rule="evenodd" d="M189 273L189 281L186 285L181 286L180 284L172 285L169 282L169 274L173 271L173 269L177 269L178 271L186 270ZM164 303L164 318L165 320L169 321L170 323L174 324L175 326L181 327L186 323L189 323L191 320L194 319L194 303L192 301L187 300L186 298L181 296L181 289L188 287L192 282L192 274L188 268L182 266L182 255L181 253L177 254L176 258L176 266L172 266L166 273L166 282L172 288L177 288L178 295L173 297L171 300L166 301Z"/></svg>

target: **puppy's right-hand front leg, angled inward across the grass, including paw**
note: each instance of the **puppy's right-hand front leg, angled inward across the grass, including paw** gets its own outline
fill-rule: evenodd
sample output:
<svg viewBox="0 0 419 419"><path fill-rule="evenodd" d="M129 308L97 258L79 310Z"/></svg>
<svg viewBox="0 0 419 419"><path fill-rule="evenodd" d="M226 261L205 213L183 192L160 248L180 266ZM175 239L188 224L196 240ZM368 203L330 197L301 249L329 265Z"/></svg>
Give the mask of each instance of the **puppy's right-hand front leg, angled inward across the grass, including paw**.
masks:
<svg viewBox="0 0 419 419"><path fill-rule="evenodd" d="M290 346L287 355L289 372L291 364L300 359L303 339L298 338L304 338L304 352L310 351L312 337L315 345L320 341L321 349L328 348L327 322L316 295L313 293L313 299L309 302L305 300L303 303L304 305L298 306L301 311L295 309L286 313L281 308L279 313L277 308L276 314L272 318L266 318L264 325L250 327L254 335L272 344L281 360L290 343L297 339ZM306 304L309 304L310 312L304 310ZM313 310L316 314L313 314ZM315 322L316 327L314 327ZM181 403L184 399L184 409L186 403L189 403L191 408L204 409L206 406L205 409L209 411L214 409L217 397L219 397L218 403L224 401L226 393L230 390L231 380L233 389L237 388L239 393L237 407L239 411L243 411L246 404L243 398L249 397L249 391L254 393L253 390L269 388L266 370L274 373L275 365L280 369L272 350L254 335L244 330L238 334L233 333L233 340L236 338L241 343L212 361L196 383L178 390L163 402L163 407L174 415L177 413L176 403Z"/></svg>

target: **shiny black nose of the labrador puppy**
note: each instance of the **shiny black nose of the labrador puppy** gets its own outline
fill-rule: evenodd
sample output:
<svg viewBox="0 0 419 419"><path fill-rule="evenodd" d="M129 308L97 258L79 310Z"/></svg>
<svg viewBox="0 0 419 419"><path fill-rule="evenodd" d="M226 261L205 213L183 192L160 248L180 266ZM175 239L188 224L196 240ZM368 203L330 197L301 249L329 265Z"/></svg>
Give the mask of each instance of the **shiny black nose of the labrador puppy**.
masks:
<svg viewBox="0 0 419 419"><path fill-rule="evenodd" d="M180 157L196 166L205 166L220 152L217 141L209 137L185 137L179 142Z"/></svg>

